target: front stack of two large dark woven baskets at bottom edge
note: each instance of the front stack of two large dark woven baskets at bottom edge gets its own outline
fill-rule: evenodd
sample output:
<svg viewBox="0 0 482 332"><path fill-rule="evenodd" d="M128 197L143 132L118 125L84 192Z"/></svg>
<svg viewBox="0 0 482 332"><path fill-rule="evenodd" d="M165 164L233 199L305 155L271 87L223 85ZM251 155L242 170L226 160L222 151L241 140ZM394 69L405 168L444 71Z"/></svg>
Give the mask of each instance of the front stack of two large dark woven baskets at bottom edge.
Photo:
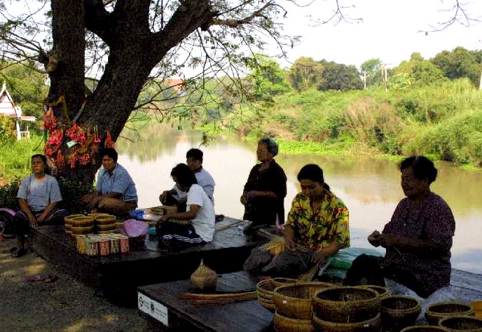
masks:
<svg viewBox="0 0 482 332"><path fill-rule="evenodd" d="M317 331L380 331L380 297L372 289L333 286L317 291L312 305Z"/></svg>

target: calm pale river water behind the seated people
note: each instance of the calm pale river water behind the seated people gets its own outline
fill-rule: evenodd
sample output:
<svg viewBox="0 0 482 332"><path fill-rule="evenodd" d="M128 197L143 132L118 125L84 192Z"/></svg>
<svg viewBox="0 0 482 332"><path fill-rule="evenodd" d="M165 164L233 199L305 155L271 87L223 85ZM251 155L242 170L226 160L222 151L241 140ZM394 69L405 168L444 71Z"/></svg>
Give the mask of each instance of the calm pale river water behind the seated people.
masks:
<svg viewBox="0 0 482 332"><path fill-rule="evenodd" d="M128 139L118 139L118 161L135 181L139 207L160 205L159 194L173 185L172 167L186 162L186 151L196 147L204 152L203 167L216 181L216 214L242 219L240 195L249 170L256 163L255 143L217 137L207 146L200 146L200 132L172 130L163 125L146 127L138 133L123 132L121 136ZM286 213L300 191L296 174L301 167L316 163L323 168L331 191L350 211L352 247L373 249L366 237L373 230L383 229L399 200L404 198L400 172L394 162L356 155L284 155L282 151L275 159L288 178ZM432 191L448 202L455 215L453 268L482 274L482 172L461 170L446 162L437 162L436 167L439 177L432 184Z"/></svg>

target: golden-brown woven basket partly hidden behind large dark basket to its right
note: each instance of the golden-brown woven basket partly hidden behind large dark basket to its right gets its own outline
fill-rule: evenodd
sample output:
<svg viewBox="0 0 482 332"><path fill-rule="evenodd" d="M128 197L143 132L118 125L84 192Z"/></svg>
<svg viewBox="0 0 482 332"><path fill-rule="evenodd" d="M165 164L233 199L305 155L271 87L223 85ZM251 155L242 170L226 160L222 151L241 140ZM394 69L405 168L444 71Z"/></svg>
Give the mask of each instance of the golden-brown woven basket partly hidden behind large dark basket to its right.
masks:
<svg viewBox="0 0 482 332"><path fill-rule="evenodd" d="M280 286L273 291L273 303L277 312L284 317L310 319L315 293L331 286L325 282L300 282Z"/></svg>

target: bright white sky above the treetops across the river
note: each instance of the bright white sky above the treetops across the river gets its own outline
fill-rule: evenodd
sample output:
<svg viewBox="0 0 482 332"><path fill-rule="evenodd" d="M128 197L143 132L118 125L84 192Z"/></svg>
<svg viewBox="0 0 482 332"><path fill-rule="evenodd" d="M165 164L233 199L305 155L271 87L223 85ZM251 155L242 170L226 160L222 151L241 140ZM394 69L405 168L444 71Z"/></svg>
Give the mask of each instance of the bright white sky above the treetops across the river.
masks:
<svg viewBox="0 0 482 332"><path fill-rule="evenodd" d="M308 0L304 0L308 3ZM463 1L463 0L460 0ZM288 50L289 61L279 60L282 67L290 67L298 57L328 60L356 67L366 60L379 58L387 67L396 67L409 60L414 52L425 59L443 50L462 46L469 50L482 50L482 1L465 0L472 18L467 26L454 23L439 32L440 22L446 22L454 11L455 0L338 0L345 8L343 13L358 20L332 20L315 25L314 18L326 20L333 15L336 0L317 0L307 8L290 8L285 32L301 35L301 43ZM422 32L420 32L422 31ZM270 52L274 50L270 46Z"/></svg>

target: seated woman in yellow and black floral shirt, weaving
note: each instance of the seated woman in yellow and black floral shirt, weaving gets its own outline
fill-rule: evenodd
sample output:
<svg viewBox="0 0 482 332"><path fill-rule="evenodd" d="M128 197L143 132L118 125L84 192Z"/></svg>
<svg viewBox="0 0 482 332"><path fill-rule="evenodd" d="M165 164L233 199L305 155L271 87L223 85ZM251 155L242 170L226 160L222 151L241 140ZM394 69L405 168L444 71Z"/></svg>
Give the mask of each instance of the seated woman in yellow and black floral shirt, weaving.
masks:
<svg viewBox="0 0 482 332"><path fill-rule="evenodd" d="M350 246L348 209L325 184L323 170L305 165L298 173L301 193L294 198L284 223L284 250L280 254L257 247L244 268L252 275L297 277Z"/></svg>

